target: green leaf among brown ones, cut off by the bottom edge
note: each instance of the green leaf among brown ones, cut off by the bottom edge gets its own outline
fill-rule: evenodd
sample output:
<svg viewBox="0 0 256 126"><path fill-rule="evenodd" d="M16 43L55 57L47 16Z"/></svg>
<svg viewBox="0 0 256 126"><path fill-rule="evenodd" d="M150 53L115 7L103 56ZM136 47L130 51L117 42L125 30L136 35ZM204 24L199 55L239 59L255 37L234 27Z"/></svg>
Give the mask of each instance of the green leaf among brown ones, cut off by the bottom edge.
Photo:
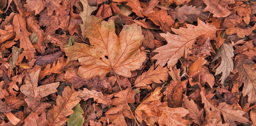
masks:
<svg viewBox="0 0 256 126"><path fill-rule="evenodd" d="M78 103L73 109L73 114L69 115L68 126L83 126L84 123L84 111Z"/></svg>

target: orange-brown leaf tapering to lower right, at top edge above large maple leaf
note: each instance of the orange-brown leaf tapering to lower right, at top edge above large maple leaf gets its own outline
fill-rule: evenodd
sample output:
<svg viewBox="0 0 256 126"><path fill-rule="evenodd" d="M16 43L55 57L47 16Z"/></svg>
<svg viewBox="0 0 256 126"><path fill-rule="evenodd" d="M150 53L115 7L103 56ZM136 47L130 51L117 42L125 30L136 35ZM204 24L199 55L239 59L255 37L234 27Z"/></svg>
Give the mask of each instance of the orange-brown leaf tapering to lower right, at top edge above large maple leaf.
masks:
<svg viewBox="0 0 256 126"><path fill-rule="evenodd" d="M144 17L142 15L143 9L141 8L139 0L113 0L113 2L127 2L126 5L132 8L132 11L136 13L136 15L140 17Z"/></svg>

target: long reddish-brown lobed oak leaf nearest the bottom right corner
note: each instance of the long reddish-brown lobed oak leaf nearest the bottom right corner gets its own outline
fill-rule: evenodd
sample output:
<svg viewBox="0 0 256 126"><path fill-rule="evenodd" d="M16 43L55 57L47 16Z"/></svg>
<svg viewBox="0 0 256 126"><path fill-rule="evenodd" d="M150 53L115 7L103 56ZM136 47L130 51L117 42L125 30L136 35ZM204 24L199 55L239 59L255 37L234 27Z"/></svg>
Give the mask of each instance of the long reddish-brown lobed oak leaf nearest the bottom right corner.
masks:
<svg viewBox="0 0 256 126"><path fill-rule="evenodd" d="M200 94L202 97L202 103L204 103L204 108L211 109L212 111L220 111L220 114L230 126L236 126L235 121L242 122L244 124L247 124L249 121L247 118L243 117L243 115L246 113L245 111L235 110L233 109L233 105L228 105L226 102L219 103L218 106L215 106L211 101L214 95L205 95L203 91L201 91Z"/></svg>

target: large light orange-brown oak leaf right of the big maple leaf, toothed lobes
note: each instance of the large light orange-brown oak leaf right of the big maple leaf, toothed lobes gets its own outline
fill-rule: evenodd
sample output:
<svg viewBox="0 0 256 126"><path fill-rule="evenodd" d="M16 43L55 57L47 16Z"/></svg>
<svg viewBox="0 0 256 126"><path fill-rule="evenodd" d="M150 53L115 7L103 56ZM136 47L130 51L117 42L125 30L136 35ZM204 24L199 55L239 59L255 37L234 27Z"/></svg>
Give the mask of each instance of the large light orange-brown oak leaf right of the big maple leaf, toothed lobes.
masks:
<svg viewBox="0 0 256 126"><path fill-rule="evenodd" d="M156 59L156 65L164 67L167 62L167 67L173 67L177 60L182 56L187 56L188 48L190 48L196 39L200 36L207 38L209 36L215 36L216 28L213 25L205 24L203 21L198 19L198 25L186 24L188 28L174 29L172 31L175 34L167 32L166 34L160 33L160 35L166 39L167 45L156 48L153 52L156 52L152 59ZM191 32L195 31L195 32Z"/></svg>

